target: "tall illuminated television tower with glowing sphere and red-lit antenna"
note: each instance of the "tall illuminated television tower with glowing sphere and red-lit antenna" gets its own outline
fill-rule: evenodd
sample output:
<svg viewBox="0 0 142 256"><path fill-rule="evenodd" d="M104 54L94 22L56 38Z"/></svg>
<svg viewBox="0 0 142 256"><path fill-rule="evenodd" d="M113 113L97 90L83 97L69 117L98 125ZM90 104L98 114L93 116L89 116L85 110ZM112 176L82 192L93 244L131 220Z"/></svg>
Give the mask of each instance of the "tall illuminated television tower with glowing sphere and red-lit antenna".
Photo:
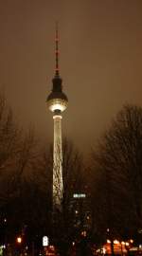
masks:
<svg viewBox="0 0 142 256"><path fill-rule="evenodd" d="M62 92L62 79L59 70L59 34L56 26L55 37L56 67L52 80L52 91L46 99L49 110L53 113L54 143L53 143L53 209L62 210L62 112L67 107L67 97Z"/></svg>

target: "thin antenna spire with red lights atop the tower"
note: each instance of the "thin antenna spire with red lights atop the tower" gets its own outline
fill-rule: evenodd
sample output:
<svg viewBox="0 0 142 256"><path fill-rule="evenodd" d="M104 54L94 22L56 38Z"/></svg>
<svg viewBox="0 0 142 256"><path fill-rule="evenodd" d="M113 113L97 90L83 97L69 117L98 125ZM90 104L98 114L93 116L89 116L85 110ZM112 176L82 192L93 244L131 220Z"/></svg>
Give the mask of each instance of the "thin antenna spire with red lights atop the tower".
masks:
<svg viewBox="0 0 142 256"><path fill-rule="evenodd" d="M58 22L56 22L56 34L55 34L55 76L59 77L59 28Z"/></svg>

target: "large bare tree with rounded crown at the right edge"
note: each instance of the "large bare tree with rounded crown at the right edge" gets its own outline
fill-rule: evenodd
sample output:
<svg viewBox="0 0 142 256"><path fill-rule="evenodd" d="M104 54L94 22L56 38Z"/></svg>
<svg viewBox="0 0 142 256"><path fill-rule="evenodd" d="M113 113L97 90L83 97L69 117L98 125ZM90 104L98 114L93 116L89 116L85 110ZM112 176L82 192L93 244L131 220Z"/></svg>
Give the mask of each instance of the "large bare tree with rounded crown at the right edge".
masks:
<svg viewBox="0 0 142 256"><path fill-rule="evenodd" d="M126 105L117 114L98 149L92 152L91 170L95 206L100 212L99 216L95 214L97 223L112 236L127 227L129 232L142 227L141 107Z"/></svg>

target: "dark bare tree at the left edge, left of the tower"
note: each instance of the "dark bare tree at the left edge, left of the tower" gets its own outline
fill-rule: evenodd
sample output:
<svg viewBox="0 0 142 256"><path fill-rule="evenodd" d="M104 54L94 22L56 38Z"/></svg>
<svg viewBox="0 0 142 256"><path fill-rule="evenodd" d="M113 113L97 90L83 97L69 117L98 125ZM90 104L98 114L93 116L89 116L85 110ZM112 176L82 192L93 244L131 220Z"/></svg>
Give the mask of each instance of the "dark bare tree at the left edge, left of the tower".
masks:
<svg viewBox="0 0 142 256"><path fill-rule="evenodd" d="M28 129L25 133L19 128L5 95L0 93L0 218L8 220L7 232L5 227L1 227L2 237L10 236L13 239L15 232L22 229L26 222L25 215L28 223L31 220L27 212L31 199L27 197L26 190L24 191L24 179L29 178L32 163L37 156L36 144L33 129ZM32 198L37 193L38 207L40 200L43 200L44 206L44 193L33 183L29 182L27 187L30 187L28 195ZM26 202L30 202L28 208ZM34 221L33 223L36 222Z"/></svg>

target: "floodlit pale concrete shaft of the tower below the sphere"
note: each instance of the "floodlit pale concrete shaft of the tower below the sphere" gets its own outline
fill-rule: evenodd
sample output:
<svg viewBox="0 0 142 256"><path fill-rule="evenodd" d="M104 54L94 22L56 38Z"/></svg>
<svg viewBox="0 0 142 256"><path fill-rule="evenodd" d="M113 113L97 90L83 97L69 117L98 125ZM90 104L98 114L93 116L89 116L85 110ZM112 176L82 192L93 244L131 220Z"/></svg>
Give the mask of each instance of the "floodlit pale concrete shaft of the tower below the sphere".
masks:
<svg viewBox="0 0 142 256"><path fill-rule="evenodd" d="M62 207L62 115L53 116L54 146L53 146L53 207Z"/></svg>

